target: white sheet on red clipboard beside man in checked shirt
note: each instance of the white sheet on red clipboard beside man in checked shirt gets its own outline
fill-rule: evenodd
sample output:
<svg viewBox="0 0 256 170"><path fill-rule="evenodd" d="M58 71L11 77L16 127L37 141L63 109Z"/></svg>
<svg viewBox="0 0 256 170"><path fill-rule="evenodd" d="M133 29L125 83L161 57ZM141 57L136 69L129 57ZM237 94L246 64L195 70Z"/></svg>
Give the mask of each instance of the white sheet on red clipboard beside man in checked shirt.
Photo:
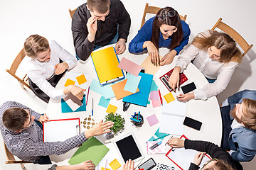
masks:
<svg viewBox="0 0 256 170"><path fill-rule="evenodd" d="M80 132L80 119L50 120L43 123L44 142L57 142L67 140Z"/></svg>

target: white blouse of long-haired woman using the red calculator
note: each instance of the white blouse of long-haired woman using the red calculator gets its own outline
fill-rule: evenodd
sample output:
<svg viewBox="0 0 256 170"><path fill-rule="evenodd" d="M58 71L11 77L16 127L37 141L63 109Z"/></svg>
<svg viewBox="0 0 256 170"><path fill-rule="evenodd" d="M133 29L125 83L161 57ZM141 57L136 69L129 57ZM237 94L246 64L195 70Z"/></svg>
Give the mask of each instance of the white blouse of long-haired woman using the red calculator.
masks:
<svg viewBox="0 0 256 170"><path fill-rule="evenodd" d="M203 32L204 36L210 36L207 30ZM220 94L225 90L232 77L235 67L238 62L218 62L218 60L210 59L208 50L200 50L195 45L190 45L181 55L179 55L176 66L181 67L181 72L188 64L193 61L193 64L203 73L208 79L216 79L213 84L207 84L202 89L193 91L195 99L206 100L211 96Z"/></svg>

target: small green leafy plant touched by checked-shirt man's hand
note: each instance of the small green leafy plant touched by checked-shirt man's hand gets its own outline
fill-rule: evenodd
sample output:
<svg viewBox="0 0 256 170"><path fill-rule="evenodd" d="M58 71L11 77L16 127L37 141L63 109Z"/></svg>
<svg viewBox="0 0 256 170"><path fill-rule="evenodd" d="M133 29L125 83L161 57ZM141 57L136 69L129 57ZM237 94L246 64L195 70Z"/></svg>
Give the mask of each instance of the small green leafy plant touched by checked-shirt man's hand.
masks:
<svg viewBox="0 0 256 170"><path fill-rule="evenodd" d="M124 130L125 120L124 118L122 118L121 115L117 113L116 114L109 113L108 115L105 116L105 120L114 122L113 127L110 128L110 130L112 130L114 133L117 133L119 131L122 132L122 130Z"/></svg>

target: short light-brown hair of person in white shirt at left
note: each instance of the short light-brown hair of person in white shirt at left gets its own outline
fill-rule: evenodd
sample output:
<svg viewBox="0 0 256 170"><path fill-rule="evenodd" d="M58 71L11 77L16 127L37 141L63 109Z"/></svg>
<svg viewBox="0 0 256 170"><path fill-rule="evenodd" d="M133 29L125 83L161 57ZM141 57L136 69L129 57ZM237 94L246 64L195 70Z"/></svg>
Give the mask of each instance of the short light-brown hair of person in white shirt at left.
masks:
<svg viewBox="0 0 256 170"><path fill-rule="evenodd" d="M49 42L41 35L30 35L24 42L24 50L28 57L36 57L38 52L45 52L49 49Z"/></svg>

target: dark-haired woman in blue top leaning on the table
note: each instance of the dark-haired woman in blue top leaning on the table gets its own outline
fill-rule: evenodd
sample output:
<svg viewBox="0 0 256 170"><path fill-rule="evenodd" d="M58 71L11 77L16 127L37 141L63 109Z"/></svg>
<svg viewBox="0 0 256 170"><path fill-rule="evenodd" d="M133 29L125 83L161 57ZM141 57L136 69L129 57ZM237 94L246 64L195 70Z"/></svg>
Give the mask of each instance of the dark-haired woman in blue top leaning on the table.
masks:
<svg viewBox="0 0 256 170"><path fill-rule="evenodd" d="M178 12L171 7L161 8L156 16L150 18L129 42L129 52L139 53L147 50L154 64L170 64L188 44L190 30L185 21L181 21ZM159 59L159 47L168 47L168 52Z"/></svg>

